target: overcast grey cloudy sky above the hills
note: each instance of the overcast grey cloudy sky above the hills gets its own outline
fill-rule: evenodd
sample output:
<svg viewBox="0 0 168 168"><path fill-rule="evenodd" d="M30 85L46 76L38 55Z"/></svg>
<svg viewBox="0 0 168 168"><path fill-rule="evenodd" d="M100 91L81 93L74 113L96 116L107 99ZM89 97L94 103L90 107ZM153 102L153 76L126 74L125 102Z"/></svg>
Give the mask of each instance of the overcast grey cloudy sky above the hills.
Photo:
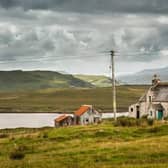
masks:
<svg viewBox="0 0 168 168"><path fill-rule="evenodd" d="M167 0L0 0L0 70L109 75L168 66Z"/></svg>

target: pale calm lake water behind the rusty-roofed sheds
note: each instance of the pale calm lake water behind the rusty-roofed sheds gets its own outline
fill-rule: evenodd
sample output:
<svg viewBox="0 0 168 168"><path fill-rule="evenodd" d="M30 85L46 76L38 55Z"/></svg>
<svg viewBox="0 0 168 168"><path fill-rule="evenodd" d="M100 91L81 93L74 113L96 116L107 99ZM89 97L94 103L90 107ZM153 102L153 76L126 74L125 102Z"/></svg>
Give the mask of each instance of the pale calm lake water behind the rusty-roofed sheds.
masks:
<svg viewBox="0 0 168 168"><path fill-rule="evenodd" d="M58 113L0 113L0 129L4 128L40 128L54 126ZM113 118L113 113L103 113L102 118ZM117 116L128 116L128 112L117 113Z"/></svg>

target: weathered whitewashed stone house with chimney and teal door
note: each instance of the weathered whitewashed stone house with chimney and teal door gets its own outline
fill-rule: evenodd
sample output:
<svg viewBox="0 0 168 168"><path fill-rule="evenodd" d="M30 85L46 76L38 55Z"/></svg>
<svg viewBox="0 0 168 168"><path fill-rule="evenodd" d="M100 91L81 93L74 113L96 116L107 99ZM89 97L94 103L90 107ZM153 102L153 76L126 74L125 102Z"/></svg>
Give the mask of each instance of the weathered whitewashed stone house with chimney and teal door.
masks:
<svg viewBox="0 0 168 168"><path fill-rule="evenodd" d="M139 101L129 106L130 117L145 115L158 120L168 116L168 82L161 82L157 75L154 75L152 86Z"/></svg>

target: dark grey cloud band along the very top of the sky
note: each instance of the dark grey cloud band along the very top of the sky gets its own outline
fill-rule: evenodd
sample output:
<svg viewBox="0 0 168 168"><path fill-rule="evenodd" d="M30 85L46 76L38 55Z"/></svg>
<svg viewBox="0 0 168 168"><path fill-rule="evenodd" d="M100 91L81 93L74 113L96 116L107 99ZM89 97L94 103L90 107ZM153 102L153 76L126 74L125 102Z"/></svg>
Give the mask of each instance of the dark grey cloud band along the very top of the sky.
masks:
<svg viewBox="0 0 168 168"><path fill-rule="evenodd" d="M168 13L167 0L0 0L0 5L81 13Z"/></svg>

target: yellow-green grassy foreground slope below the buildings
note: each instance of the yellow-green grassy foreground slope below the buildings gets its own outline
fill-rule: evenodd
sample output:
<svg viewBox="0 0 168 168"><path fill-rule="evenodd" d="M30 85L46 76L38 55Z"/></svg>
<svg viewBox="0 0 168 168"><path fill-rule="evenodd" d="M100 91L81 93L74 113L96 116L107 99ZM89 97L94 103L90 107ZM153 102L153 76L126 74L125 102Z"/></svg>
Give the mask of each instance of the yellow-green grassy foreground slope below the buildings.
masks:
<svg viewBox="0 0 168 168"><path fill-rule="evenodd" d="M3 168L167 168L168 125L1 130ZM20 147L22 160L9 158Z"/></svg>

